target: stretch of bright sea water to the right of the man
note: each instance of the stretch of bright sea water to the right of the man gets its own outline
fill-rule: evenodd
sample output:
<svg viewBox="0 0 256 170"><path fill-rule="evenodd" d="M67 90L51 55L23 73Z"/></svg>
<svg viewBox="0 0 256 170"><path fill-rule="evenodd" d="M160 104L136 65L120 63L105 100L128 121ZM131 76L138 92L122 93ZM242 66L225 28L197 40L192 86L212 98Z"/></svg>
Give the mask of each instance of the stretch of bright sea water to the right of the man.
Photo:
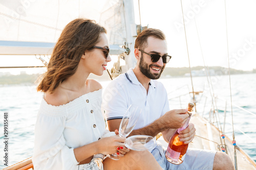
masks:
<svg viewBox="0 0 256 170"><path fill-rule="evenodd" d="M171 110L186 108L187 103L193 99L193 93L188 94L192 91L190 77L160 79L159 81L166 88ZM231 75L230 81L229 76L211 76L208 77L208 80L207 77L193 77L194 91L203 91L203 93L195 95L197 113L211 120L216 127L219 126L219 129L222 129L231 140L234 129L238 146L256 161L255 84L256 74ZM230 98L230 87L232 98ZM212 96L217 97L213 102ZM209 114L210 110L211 113ZM216 116L212 114L213 110L216 110ZM224 117L225 110L226 118Z"/></svg>

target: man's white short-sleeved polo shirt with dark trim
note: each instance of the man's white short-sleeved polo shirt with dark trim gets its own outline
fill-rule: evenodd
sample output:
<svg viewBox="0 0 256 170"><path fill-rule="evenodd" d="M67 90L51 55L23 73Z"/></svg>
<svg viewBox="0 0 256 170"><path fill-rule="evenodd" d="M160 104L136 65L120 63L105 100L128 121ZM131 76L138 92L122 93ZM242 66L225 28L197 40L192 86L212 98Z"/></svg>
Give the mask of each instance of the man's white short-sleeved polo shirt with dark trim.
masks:
<svg viewBox="0 0 256 170"><path fill-rule="evenodd" d="M119 75L103 92L102 110L106 120L122 118L131 104L142 112L134 129L143 128L169 111L167 92L162 83L151 80L148 93L136 78L133 69Z"/></svg>

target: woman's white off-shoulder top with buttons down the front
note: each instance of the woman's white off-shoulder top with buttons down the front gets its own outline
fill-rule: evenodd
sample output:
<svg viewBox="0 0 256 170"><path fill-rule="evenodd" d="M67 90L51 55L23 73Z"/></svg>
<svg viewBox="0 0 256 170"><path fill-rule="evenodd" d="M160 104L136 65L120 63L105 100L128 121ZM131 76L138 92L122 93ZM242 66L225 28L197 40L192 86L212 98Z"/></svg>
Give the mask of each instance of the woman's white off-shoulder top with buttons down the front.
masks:
<svg viewBox="0 0 256 170"><path fill-rule="evenodd" d="M35 169L78 169L74 148L94 142L105 133L101 94L102 89L61 106L42 99L35 125Z"/></svg>

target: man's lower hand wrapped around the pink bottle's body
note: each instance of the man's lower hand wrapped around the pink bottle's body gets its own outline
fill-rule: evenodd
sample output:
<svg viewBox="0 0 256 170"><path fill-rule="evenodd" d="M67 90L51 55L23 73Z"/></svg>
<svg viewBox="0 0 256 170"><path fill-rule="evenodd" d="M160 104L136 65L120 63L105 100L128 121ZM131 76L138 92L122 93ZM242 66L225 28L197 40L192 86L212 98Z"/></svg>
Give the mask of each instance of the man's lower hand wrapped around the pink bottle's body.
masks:
<svg viewBox="0 0 256 170"><path fill-rule="evenodd" d="M188 127L180 132L179 138L180 141L183 141L185 144L191 142L196 135L196 128L194 124L188 124Z"/></svg>

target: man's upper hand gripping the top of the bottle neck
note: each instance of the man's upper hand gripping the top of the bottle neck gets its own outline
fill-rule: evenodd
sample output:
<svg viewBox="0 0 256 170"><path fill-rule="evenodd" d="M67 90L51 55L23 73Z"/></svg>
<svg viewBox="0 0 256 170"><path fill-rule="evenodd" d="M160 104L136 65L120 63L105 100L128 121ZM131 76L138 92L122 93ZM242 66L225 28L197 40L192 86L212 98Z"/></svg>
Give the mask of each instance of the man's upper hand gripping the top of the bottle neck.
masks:
<svg viewBox="0 0 256 170"><path fill-rule="evenodd" d="M166 112L160 119L164 129L178 129L188 118L187 109L175 109Z"/></svg>

